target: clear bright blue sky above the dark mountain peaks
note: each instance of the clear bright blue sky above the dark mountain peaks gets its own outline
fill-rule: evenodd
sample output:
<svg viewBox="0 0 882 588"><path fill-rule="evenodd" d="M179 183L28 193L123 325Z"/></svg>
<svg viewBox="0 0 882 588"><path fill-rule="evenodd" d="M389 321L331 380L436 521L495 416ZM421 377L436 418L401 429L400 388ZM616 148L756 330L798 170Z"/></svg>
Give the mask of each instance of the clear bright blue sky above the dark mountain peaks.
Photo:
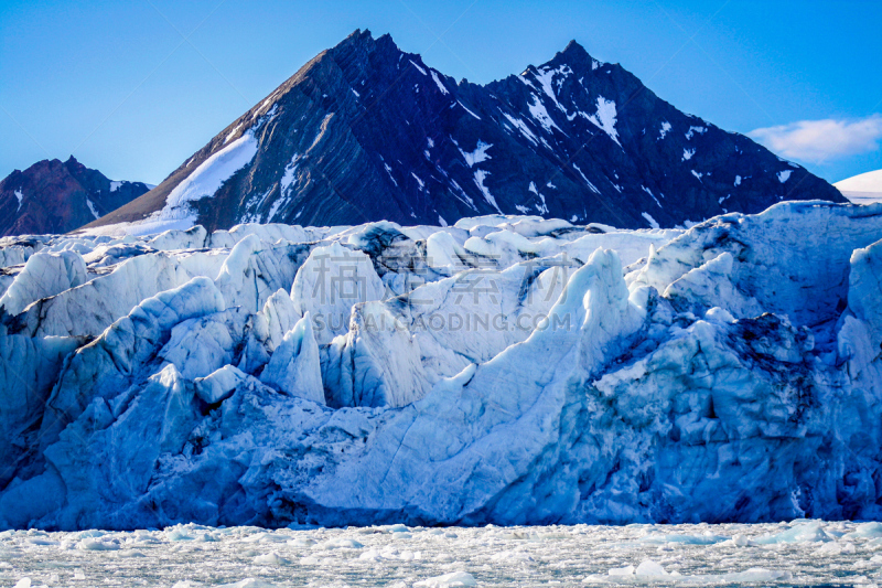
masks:
<svg viewBox="0 0 882 588"><path fill-rule="evenodd" d="M882 168L879 0L0 0L0 178L73 153L159 183L357 28L476 83L576 39L830 181Z"/></svg>

